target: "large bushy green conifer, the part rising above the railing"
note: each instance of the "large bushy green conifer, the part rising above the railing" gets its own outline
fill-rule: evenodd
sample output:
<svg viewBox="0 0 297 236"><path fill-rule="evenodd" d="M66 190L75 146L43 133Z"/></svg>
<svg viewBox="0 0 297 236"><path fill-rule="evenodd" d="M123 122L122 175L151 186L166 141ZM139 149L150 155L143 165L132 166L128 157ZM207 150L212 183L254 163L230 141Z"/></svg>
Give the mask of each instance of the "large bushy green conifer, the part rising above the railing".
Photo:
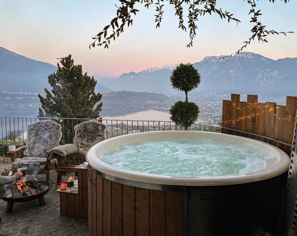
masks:
<svg viewBox="0 0 297 236"><path fill-rule="evenodd" d="M57 72L48 76L51 92L45 88L45 97L38 94L44 110L39 108L39 117L101 118L103 103L97 103L102 94L94 92L97 81L83 74L82 66L74 65L71 55L60 63L62 67L58 63Z"/></svg>

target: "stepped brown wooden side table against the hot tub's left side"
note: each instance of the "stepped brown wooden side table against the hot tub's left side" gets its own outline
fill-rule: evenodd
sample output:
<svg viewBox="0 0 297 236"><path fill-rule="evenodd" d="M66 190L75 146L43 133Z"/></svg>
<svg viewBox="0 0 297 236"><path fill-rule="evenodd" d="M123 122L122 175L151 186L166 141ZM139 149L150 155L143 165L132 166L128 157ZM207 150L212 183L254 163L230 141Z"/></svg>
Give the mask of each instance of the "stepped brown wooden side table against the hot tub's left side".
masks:
<svg viewBox="0 0 297 236"><path fill-rule="evenodd" d="M60 193L60 214L88 219L88 169L83 163L75 169L78 179L74 181L74 187L57 189Z"/></svg>

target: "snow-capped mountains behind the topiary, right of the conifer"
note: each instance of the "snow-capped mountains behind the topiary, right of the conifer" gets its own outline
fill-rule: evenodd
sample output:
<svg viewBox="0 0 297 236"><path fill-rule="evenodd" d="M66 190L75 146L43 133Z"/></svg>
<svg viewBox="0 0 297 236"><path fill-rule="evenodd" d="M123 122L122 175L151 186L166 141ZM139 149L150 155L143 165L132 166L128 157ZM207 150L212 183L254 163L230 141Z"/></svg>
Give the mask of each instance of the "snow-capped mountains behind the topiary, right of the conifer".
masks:
<svg viewBox="0 0 297 236"><path fill-rule="evenodd" d="M222 56L205 57L194 63L201 74L200 91L297 94L297 57L273 60L256 53L242 52L219 60ZM141 72L125 73L116 80L100 83L114 90L136 92L170 92L170 73L176 65L164 65ZM295 86L294 86L295 85Z"/></svg>

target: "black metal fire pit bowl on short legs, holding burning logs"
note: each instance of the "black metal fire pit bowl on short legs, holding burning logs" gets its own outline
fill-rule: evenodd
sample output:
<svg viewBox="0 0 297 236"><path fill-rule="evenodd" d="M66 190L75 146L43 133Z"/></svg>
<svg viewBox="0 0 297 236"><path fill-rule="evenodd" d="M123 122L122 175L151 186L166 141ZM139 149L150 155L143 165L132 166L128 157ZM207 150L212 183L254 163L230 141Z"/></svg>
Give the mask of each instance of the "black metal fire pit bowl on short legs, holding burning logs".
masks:
<svg viewBox="0 0 297 236"><path fill-rule="evenodd" d="M10 190L10 185L6 186L6 193L3 196L3 200L7 202L5 212L10 212L14 206L14 203L22 203L22 202L28 202L34 199L38 199L40 206L45 206L46 205L46 200L44 199L44 195L46 195L49 191L50 183L43 181L43 180L34 180L35 183L40 183L40 187L43 187L43 191L41 193L37 193L32 196L26 196L26 197L10 197L8 198L7 196L11 193ZM26 181L28 183L29 181Z"/></svg>

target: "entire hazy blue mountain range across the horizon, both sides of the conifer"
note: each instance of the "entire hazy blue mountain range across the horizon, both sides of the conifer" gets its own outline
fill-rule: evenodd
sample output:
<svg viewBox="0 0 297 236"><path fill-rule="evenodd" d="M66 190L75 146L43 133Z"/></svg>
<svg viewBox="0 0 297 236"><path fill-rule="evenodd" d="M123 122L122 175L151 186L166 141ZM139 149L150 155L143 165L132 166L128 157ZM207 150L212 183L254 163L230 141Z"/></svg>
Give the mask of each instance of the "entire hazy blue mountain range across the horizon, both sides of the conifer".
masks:
<svg viewBox="0 0 297 236"><path fill-rule="evenodd" d="M208 91L277 96L295 96L297 93L296 86L293 86L297 84L297 57L273 60L249 52L224 60L220 60L220 57L204 57L193 64L201 74L201 83L192 95ZM176 92L171 88L169 79L175 67L164 65L138 73L124 73L118 78L101 78L95 91ZM56 70L54 65L0 47L1 90L44 92L45 87L49 88L47 76Z"/></svg>

